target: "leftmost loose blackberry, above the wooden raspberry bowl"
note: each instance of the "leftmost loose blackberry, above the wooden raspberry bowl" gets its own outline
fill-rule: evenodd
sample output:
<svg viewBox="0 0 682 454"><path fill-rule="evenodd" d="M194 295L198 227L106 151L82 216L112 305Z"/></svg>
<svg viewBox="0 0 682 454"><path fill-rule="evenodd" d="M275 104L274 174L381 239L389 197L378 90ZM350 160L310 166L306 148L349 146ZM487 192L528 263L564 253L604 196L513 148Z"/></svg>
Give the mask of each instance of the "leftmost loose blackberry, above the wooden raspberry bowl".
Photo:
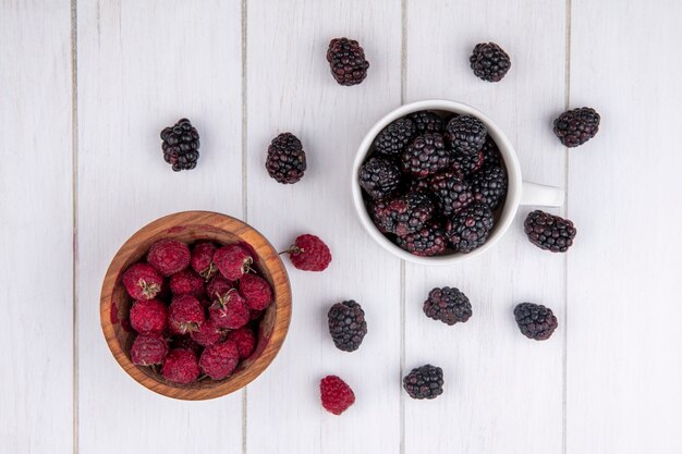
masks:
<svg viewBox="0 0 682 454"><path fill-rule="evenodd" d="M161 131L163 159L173 171L192 170L199 159L199 133L187 119Z"/></svg>

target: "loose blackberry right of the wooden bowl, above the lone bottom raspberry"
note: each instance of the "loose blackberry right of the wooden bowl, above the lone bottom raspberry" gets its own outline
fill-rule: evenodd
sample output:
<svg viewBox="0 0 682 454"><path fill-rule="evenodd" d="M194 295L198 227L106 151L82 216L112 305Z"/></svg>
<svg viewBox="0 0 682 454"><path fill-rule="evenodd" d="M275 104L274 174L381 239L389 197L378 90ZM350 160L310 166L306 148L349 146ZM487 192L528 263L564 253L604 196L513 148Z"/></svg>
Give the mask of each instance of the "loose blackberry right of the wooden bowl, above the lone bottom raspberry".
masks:
<svg viewBox="0 0 682 454"><path fill-rule="evenodd" d="M329 309L329 334L337 348L354 352L367 334L365 311L353 299L337 303Z"/></svg>

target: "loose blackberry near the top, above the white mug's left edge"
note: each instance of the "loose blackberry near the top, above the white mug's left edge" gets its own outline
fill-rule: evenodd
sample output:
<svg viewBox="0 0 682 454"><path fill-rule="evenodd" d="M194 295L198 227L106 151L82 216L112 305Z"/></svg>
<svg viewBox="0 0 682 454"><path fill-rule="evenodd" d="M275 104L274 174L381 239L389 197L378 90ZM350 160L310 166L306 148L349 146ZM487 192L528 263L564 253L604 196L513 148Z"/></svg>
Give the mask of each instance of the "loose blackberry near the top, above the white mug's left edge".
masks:
<svg viewBox="0 0 682 454"><path fill-rule="evenodd" d="M367 77L369 62L356 40L334 38L329 42L327 61L339 85L357 85Z"/></svg>

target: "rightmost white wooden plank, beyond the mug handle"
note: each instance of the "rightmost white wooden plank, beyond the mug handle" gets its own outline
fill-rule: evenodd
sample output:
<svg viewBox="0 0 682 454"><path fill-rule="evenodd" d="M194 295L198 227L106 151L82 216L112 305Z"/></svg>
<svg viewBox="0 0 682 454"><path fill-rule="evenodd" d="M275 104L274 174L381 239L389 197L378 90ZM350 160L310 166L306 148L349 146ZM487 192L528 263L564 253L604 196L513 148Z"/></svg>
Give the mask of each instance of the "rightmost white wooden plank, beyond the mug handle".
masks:
<svg viewBox="0 0 682 454"><path fill-rule="evenodd" d="M682 407L682 4L573 1L571 107L601 130L570 151L569 453L678 453Z"/></svg>

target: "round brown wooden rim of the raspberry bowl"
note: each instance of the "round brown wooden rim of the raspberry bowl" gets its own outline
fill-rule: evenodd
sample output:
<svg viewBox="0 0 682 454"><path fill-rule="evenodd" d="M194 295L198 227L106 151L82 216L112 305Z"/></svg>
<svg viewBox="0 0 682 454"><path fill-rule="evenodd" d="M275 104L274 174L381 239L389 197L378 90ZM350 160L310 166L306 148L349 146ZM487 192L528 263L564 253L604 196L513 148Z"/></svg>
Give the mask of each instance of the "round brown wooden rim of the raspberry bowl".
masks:
<svg viewBox="0 0 682 454"><path fill-rule="evenodd" d="M253 233L261 238L263 244L255 249L258 250L258 256L265 262L268 262L268 271L272 279L272 285L278 289L277 299L273 302L276 306L275 322L272 326L272 332L268 342L260 353L260 355L253 360L247 368L241 371L238 377L239 380L219 381L210 388L182 388L182 385L172 385L170 383L160 381L150 377L135 366L129 358L126 352L121 346L114 329L111 322L111 309L113 304L113 290L117 284L120 284L120 275L123 273L123 266L130 259L130 257L136 250L131 247L138 241L144 241L150 236L155 236L165 231L172 230L179 225L208 225L218 230L222 230L234 234L243 240L242 234L239 232L227 231L226 224L236 225L238 229L245 232ZM272 363L277 354L279 353L289 331L291 322L291 284L287 268L282 262L277 249L270 244L270 242L256 229L249 224L233 218L228 214L214 212L214 211L180 211L165 217L158 218L148 224L137 230L131 235L119 248L114 257L112 258L107 273L102 281L100 293L100 326L109 351L111 352L118 364L125 370L125 372L132 377L139 384L145 388L161 394L167 397L184 400L184 401L204 401L209 398L221 397L238 391L255 380L263 371Z"/></svg>

